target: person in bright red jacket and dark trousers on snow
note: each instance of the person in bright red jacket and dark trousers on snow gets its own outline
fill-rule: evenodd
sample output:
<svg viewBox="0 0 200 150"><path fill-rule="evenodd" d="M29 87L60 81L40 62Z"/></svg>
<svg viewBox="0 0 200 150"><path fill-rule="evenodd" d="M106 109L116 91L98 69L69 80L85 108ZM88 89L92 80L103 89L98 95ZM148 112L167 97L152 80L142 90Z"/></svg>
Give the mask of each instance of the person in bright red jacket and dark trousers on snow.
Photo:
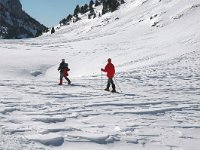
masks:
<svg viewBox="0 0 200 150"><path fill-rule="evenodd" d="M115 66L111 63L111 59L110 58L108 59L108 63L105 66L105 68L101 69L101 71L107 72L108 83L107 83L107 87L106 87L105 90L109 91L110 84L112 84L112 91L111 92L116 92L115 84L114 84L114 81L113 81L113 77L115 75Z"/></svg>

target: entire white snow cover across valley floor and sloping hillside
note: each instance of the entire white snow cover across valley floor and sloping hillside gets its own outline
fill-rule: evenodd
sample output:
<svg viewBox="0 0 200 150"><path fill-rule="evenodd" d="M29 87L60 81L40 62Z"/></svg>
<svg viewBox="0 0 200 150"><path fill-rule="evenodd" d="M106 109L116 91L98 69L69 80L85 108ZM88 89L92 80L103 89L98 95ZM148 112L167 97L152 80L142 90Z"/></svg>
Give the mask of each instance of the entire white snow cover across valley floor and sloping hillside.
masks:
<svg viewBox="0 0 200 150"><path fill-rule="evenodd" d="M199 0L127 0L53 35L1 40L0 149L199 150L199 14ZM120 93L102 90L109 57ZM62 58L70 86L58 85Z"/></svg>

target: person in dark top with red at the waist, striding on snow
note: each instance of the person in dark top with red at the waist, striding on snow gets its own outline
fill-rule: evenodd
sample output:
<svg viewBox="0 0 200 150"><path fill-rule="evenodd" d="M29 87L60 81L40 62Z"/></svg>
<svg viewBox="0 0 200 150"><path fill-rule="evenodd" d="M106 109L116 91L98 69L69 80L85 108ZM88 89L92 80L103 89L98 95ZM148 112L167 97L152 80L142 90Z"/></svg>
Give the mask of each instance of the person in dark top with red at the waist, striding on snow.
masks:
<svg viewBox="0 0 200 150"><path fill-rule="evenodd" d="M68 84L71 84L71 81L67 77L68 71L70 71L70 69L68 68L68 64L65 63L65 59L62 59L62 62L60 63L60 66L58 67L58 71L60 71L60 83L59 83L59 85L62 85L63 77L68 81Z"/></svg>

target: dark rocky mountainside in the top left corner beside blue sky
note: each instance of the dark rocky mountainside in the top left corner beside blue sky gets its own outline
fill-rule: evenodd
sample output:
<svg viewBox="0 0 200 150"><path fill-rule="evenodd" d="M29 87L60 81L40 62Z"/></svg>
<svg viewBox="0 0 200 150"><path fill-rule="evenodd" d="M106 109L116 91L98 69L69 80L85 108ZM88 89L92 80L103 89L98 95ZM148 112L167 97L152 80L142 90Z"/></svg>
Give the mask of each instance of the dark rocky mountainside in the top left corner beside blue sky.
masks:
<svg viewBox="0 0 200 150"><path fill-rule="evenodd" d="M0 38L29 38L47 28L22 10L19 0L0 0Z"/></svg>

